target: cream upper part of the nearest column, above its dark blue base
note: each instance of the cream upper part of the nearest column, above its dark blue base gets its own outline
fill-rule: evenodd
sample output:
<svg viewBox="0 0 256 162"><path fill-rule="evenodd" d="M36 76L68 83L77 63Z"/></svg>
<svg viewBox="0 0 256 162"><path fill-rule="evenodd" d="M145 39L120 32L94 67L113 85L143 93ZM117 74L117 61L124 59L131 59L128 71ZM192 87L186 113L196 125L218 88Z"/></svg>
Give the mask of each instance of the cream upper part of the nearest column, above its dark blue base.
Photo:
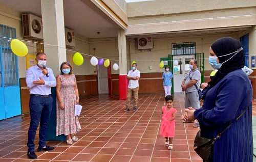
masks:
<svg viewBox="0 0 256 162"><path fill-rule="evenodd" d="M41 10L46 66L57 76L61 63L67 61L63 0L41 0Z"/></svg>

